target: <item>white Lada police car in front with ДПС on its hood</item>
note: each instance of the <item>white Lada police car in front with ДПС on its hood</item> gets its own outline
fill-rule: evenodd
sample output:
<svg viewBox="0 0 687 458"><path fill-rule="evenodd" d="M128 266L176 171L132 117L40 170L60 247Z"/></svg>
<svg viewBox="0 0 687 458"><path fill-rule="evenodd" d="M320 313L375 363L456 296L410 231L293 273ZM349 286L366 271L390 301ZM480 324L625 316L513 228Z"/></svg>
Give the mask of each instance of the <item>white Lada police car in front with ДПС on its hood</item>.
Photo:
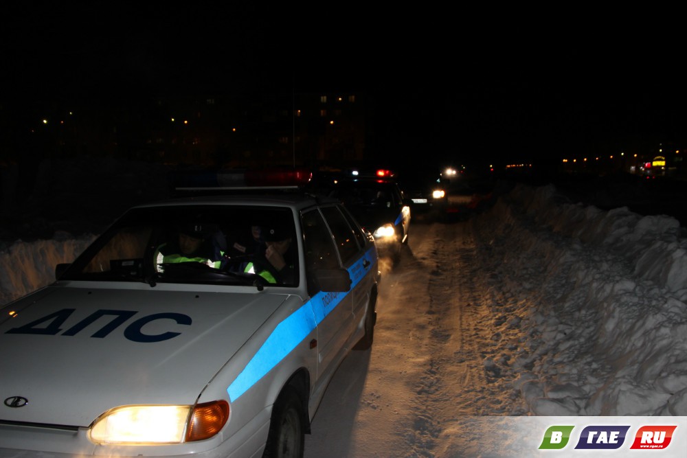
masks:
<svg viewBox="0 0 687 458"><path fill-rule="evenodd" d="M271 248L241 254L254 227ZM381 279L370 233L300 192L135 207L57 275L0 309L0 457L301 456Z"/></svg>

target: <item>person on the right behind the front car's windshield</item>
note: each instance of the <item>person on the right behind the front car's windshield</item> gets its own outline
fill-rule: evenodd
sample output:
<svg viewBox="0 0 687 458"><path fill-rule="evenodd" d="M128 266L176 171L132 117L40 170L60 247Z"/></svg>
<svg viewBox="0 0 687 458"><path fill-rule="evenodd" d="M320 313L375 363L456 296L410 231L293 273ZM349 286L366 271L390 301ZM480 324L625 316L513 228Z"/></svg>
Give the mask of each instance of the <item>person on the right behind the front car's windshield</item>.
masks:
<svg viewBox="0 0 687 458"><path fill-rule="evenodd" d="M260 235L262 244L245 272L256 273L269 283L293 284L296 253L290 231L283 225L268 225L260 228Z"/></svg>

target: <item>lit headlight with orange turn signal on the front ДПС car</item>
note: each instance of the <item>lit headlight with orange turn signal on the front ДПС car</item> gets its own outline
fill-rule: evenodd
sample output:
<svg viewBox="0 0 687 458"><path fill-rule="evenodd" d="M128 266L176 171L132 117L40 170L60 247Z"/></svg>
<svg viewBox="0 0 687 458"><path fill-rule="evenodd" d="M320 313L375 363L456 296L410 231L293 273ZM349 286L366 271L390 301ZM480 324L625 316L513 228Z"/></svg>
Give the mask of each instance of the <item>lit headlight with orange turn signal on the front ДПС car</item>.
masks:
<svg viewBox="0 0 687 458"><path fill-rule="evenodd" d="M226 401L193 406L125 406L95 420L91 442L99 445L179 444L207 439L229 419Z"/></svg>

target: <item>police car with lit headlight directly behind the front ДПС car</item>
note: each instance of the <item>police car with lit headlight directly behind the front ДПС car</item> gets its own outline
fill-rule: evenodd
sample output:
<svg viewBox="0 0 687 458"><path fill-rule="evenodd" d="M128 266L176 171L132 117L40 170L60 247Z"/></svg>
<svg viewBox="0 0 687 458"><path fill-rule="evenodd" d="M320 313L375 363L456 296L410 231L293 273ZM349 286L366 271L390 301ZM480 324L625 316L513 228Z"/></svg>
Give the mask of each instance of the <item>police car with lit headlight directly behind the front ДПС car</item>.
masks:
<svg viewBox="0 0 687 458"><path fill-rule="evenodd" d="M394 262L407 244L411 209L398 183L385 170L371 174L343 172L330 178L329 196L343 202L354 218L374 237L382 257Z"/></svg>

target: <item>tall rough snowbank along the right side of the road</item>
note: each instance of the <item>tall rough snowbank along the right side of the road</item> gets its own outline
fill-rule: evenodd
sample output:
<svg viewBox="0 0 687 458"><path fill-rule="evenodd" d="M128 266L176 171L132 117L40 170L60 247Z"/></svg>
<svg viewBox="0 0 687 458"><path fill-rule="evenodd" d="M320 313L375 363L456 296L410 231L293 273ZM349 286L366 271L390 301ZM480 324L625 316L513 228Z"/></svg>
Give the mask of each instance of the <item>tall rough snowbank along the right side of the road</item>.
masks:
<svg viewBox="0 0 687 458"><path fill-rule="evenodd" d="M687 415L679 224L558 200L552 186L519 185L475 220L531 413Z"/></svg>

